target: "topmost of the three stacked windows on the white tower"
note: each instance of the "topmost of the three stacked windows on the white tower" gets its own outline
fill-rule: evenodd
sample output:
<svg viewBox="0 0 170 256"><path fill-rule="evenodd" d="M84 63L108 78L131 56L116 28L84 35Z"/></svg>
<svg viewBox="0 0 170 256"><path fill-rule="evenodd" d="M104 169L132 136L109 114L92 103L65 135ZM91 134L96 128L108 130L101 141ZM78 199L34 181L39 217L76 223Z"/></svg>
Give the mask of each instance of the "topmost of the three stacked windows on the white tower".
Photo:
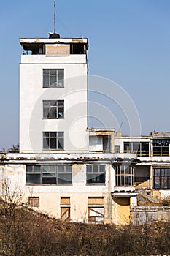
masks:
<svg viewBox="0 0 170 256"><path fill-rule="evenodd" d="M43 87L63 87L63 69L43 69Z"/></svg>

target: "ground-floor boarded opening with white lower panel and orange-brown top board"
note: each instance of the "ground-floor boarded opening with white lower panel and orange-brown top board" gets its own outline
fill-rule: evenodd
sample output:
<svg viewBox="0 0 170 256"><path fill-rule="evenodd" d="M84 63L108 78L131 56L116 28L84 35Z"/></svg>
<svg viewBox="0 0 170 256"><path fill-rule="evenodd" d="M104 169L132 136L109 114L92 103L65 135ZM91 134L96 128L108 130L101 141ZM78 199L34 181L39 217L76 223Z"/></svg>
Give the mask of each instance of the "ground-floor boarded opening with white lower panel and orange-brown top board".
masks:
<svg viewBox="0 0 170 256"><path fill-rule="evenodd" d="M104 222L104 197L88 197L88 222Z"/></svg>

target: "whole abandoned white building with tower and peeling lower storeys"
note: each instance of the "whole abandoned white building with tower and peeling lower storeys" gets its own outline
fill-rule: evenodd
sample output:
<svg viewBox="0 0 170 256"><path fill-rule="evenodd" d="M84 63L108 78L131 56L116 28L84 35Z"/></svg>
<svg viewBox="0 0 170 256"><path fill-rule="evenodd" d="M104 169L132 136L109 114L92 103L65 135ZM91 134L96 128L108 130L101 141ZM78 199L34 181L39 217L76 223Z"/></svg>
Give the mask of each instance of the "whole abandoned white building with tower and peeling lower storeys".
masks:
<svg viewBox="0 0 170 256"><path fill-rule="evenodd" d="M20 152L1 153L1 183L58 219L125 224L143 206L166 219L170 133L88 129L88 39L50 34L20 44Z"/></svg>

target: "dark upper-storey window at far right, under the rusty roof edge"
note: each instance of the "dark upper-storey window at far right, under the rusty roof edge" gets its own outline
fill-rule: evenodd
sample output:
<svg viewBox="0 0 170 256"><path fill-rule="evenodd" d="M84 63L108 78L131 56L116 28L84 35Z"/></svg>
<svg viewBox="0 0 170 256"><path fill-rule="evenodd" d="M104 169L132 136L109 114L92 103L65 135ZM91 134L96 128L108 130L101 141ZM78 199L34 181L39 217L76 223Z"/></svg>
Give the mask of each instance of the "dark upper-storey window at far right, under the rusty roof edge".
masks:
<svg viewBox="0 0 170 256"><path fill-rule="evenodd" d="M155 139L153 140L153 156L169 157L169 139Z"/></svg>

